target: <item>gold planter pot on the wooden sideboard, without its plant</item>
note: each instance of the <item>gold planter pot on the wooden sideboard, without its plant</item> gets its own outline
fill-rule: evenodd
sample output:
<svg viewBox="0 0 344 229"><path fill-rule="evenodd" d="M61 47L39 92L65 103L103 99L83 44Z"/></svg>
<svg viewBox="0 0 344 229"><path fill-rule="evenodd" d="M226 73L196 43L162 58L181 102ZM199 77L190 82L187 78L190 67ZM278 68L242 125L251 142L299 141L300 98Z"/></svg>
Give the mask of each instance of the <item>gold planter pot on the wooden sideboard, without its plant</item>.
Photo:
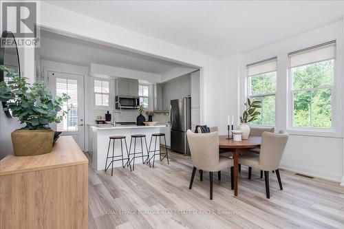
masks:
<svg viewBox="0 0 344 229"><path fill-rule="evenodd" d="M52 129L20 130L11 133L14 155L32 156L50 153L54 140Z"/></svg>

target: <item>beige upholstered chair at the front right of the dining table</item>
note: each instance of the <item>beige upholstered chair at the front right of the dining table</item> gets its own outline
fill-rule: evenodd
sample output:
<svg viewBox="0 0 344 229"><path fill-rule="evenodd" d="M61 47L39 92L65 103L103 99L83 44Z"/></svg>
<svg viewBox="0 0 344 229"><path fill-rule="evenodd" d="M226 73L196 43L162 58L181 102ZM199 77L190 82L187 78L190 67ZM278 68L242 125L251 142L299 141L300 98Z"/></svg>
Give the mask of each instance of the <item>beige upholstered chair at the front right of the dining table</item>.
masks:
<svg viewBox="0 0 344 229"><path fill-rule="evenodd" d="M279 162L288 142L288 133L279 131L279 133L264 132L261 135L260 153L244 153L239 155L239 164L244 164L249 168L257 168L264 171L266 198L270 198L269 171L276 171L279 188L283 190L281 176L279 175Z"/></svg>

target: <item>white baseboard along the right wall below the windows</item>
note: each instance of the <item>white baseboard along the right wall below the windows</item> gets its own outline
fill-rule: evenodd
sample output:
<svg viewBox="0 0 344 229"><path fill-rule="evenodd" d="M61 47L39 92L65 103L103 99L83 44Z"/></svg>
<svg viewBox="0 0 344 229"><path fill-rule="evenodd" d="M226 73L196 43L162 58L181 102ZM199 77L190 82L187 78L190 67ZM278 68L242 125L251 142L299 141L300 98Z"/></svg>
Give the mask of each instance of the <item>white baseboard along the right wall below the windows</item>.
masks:
<svg viewBox="0 0 344 229"><path fill-rule="evenodd" d="M319 177L323 179L328 179L332 182L341 182L341 185L344 186L344 177L341 173L335 173L332 171L325 171L321 170L319 168L309 167L309 166L303 166L301 164L291 164L288 162L281 162L279 165L280 168L284 168L289 171L293 171L296 173L301 173L303 175L309 175L312 177Z"/></svg>

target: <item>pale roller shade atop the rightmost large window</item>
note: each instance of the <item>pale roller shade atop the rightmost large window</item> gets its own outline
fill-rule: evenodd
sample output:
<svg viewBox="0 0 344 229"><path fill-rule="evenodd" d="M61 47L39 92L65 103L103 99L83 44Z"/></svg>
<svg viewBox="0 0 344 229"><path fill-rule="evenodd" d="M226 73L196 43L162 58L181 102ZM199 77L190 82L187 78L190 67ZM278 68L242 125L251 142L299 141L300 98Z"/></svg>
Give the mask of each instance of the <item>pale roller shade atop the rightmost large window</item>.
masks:
<svg viewBox="0 0 344 229"><path fill-rule="evenodd" d="M336 58L336 41L288 54L289 67L308 65Z"/></svg>

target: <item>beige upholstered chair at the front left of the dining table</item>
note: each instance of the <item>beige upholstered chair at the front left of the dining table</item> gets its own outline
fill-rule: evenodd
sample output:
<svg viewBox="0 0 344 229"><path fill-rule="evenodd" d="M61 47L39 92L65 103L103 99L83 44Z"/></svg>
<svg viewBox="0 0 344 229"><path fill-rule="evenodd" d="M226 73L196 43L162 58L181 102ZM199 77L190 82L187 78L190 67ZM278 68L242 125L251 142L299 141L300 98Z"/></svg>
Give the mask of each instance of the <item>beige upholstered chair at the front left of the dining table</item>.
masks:
<svg viewBox="0 0 344 229"><path fill-rule="evenodd" d="M219 134L212 133L193 133L191 130L186 132L191 160L193 162L193 173L189 189L193 186L196 169L209 171L210 181L210 199L213 199L213 173L219 172L225 168L233 167L233 160L230 157L222 157L219 155ZM231 171L231 184L233 189L233 169Z"/></svg>

